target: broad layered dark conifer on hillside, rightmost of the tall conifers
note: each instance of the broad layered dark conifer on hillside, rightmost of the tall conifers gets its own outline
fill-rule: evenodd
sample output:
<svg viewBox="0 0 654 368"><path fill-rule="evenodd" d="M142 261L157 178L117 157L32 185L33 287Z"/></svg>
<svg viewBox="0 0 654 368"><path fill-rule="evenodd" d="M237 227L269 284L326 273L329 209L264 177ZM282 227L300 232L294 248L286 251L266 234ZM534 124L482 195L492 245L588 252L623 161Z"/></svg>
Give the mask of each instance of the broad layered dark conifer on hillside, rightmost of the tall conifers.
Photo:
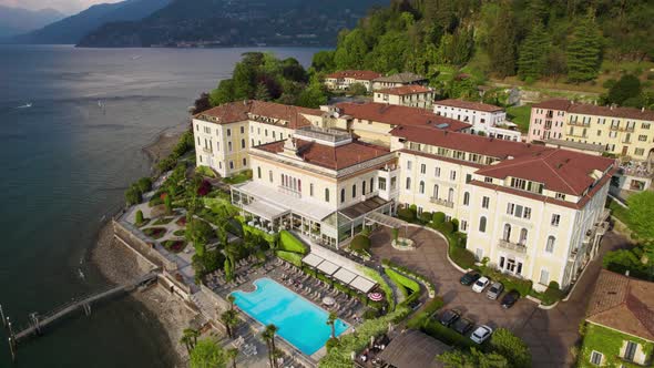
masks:
<svg viewBox="0 0 654 368"><path fill-rule="evenodd" d="M578 20L566 53L570 81L585 82L597 76L602 55L602 35L592 13Z"/></svg>

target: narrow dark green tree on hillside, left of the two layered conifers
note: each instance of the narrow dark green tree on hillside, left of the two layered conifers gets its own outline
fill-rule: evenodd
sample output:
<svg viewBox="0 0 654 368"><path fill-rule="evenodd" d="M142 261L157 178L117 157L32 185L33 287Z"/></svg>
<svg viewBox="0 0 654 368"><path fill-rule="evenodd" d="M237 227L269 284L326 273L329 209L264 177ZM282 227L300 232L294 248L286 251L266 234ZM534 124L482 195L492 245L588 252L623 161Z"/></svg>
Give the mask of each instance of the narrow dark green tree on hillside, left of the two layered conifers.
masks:
<svg viewBox="0 0 654 368"><path fill-rule="evenodd" d="M489 34L488 47L491 71L504 78L515 74L515 30L512 11L508 6L502 11Z"/></svg>

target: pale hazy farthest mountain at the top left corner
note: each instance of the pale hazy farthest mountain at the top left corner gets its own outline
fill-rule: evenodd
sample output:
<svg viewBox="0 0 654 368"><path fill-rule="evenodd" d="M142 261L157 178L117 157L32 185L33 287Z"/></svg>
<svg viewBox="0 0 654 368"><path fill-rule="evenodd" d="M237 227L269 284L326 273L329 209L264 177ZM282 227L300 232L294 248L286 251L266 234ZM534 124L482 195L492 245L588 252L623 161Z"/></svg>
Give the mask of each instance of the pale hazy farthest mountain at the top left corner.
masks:
<svg viewBox="0 0 654 368"><path fill-rule="evenodd" d="M0 38L25 33L64 17L54 9L27 10L0 6Z"/></svg>

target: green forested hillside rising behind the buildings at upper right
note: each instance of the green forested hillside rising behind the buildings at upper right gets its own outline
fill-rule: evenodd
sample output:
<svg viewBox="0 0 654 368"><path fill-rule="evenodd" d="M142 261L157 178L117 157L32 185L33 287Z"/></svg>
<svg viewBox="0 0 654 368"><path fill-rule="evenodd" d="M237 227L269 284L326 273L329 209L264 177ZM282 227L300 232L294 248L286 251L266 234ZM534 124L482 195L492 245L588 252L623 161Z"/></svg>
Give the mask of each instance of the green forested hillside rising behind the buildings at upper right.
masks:
<svg viewBox="0 0 654 368"><path fill-rule="evenodd" d="M592 84L609 72L603 62L646 65L652 19L646 0L394 0L341 31L336 51L316 55L314 68L413 71L436 80L447 67L466 67L528 83Z"/></svg>

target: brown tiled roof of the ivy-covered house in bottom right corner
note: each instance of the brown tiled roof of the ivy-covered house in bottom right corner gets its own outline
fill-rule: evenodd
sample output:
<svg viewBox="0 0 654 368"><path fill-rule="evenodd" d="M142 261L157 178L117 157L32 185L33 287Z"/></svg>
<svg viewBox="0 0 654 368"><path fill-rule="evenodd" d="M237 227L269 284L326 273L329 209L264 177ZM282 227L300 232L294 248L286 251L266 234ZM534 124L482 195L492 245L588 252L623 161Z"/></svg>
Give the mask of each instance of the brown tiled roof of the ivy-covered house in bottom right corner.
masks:
<svg viewBox="0 0 654 368"><path fill-rule="evenodd" d="M654 283L602 269L586 320L654 341Z"/></svg>

